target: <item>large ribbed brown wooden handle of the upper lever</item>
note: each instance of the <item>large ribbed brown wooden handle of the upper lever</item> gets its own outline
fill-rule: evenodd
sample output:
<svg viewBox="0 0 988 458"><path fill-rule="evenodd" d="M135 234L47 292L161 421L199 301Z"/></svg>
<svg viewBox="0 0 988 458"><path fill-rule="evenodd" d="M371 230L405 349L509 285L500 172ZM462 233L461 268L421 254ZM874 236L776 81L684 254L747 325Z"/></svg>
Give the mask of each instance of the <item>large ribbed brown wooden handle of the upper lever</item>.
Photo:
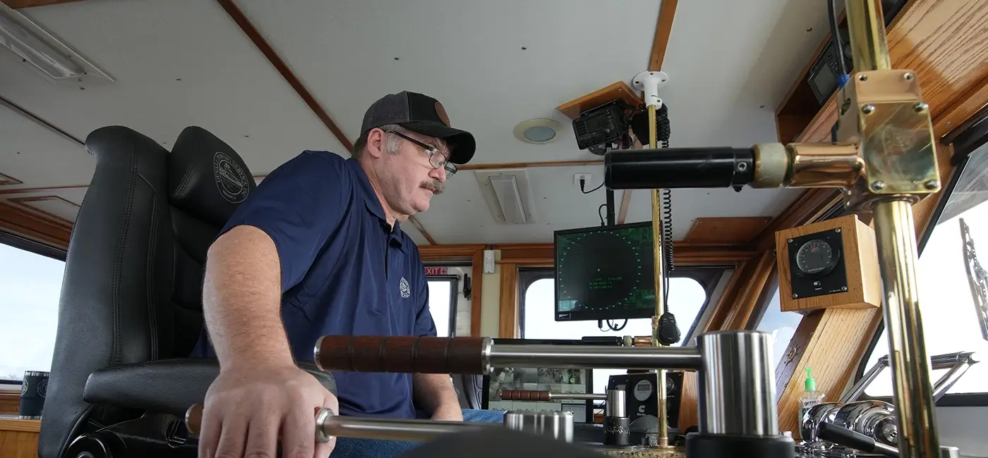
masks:
<svg viewBox="0 0 988 458"><path fill-rule="evenodd" d="M315 346L321 370L486 374L487 338L323 336Z"/></svg>

